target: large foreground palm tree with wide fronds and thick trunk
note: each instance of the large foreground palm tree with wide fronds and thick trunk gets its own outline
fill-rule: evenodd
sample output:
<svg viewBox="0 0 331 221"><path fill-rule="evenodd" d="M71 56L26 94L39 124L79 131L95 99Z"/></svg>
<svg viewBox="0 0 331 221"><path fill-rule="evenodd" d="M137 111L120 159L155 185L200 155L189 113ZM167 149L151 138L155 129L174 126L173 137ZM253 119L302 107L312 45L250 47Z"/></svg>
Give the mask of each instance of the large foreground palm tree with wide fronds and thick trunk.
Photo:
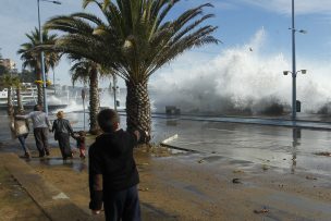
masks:
<svg viewBox="0 0 331 221"><path fill-rule="evenodd" d="M83 0L96 3L103 19L75 13L51 19L46 28L64 32L56 42L63 51L77 53L112 69L127 87L127 128L150 132L149 77L164 64L194 47L218 44L217 27L203 25L206 3L167 19L180 0ZM105 22L103 22L105 21Z"/></svg>

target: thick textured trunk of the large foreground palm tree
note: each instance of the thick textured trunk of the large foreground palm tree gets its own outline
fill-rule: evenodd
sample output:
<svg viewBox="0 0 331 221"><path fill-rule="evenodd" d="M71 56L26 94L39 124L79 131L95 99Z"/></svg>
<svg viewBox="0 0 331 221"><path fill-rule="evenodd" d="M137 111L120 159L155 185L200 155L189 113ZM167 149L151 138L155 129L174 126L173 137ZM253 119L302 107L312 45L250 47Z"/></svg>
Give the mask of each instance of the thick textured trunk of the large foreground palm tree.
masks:
<svg viewBox="0 0 331 221"><path fill-rule="evenodd" d="M127 131L139 128L150 133L151 114L147 83L126 82L126 88Z"/></svg>

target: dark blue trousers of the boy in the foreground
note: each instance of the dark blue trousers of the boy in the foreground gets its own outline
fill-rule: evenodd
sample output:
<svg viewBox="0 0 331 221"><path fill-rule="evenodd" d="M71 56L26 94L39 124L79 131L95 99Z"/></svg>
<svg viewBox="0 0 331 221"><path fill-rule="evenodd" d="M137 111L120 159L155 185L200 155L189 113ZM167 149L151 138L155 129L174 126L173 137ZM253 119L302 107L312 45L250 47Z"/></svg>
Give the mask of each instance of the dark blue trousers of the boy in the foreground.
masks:
<svg viewBox="0 0 331 221"><path fill-rule="evenodd" d="M105 193L106 221L140 221L140 206L137 186L120 192Z"/></svg>

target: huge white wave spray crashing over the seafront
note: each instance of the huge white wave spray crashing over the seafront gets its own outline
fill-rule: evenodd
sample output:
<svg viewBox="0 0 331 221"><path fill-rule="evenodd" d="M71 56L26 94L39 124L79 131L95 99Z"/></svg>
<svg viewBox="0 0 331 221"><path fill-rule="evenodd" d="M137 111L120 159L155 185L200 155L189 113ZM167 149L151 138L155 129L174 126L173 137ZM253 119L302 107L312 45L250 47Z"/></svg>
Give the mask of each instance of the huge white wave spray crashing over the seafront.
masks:
<svg viewBox="0 0 331 221"><path fill-rule="evenodd" d="M163 71L152 82L157 88L154 105L157 110L176 106L185 112L261 113L274 105L291 109L292 77L283 71L291 69L282 53L261 52L266 33L260 29L246 45L224 50L208 63ZM302 110L317 112L330 102L328 73L331 65L305 61L307 75L297 75L297 99ZM318 76L318 77L317 77Z"/></svg>

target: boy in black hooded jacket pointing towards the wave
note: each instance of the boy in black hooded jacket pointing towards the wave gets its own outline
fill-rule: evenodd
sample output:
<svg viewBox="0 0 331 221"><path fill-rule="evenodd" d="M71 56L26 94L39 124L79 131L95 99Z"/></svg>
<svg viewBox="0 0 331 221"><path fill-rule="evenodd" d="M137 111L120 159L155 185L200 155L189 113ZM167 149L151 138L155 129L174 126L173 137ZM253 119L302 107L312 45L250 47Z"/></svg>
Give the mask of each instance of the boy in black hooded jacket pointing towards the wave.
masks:
<svg viewBox="0 0 331 221"><path fill-rule="evenodd" d="M96 138L88 151L89 208L98 214L103 202L107 221L139 221L139 175L133 148L139 142L148 142L148 133L121 130L120 118L111 109L99 112L98 123L103 134Z"/></svg>

